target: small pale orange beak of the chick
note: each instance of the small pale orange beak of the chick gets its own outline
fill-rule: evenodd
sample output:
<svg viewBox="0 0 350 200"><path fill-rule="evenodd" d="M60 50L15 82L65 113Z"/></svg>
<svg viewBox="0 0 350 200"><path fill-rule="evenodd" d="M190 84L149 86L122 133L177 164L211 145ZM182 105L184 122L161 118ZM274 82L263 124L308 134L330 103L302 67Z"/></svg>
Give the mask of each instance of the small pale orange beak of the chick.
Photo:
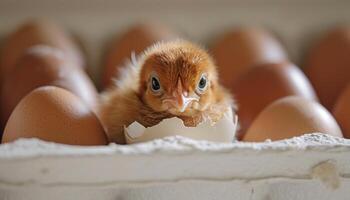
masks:
<svg viewBox="0 0 350 200"><path fill-rule="evenodd" d="M172 108L178 112L184 112L192 101L198 101L198 98L189 97L188 93L183 91L181 81L179 80L177 88L172 96L164 99L163 103L170 109Z"/></svg>

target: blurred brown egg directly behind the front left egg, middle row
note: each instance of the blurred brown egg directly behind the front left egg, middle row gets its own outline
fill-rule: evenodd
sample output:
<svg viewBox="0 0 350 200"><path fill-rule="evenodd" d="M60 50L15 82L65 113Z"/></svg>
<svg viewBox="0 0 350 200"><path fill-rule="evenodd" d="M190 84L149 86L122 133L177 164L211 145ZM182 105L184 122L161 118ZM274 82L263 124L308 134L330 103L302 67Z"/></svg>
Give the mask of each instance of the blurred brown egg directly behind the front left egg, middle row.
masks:
<svg viewBox="0 0 350 200"><path fill-rule="evenodd" d="M95 110L98 93L86 73L65 59L64 53L49 46L34 46L5 77L1 90L1 118L6 123L19 101L33 89L53 85L65 88Z"/></svg>

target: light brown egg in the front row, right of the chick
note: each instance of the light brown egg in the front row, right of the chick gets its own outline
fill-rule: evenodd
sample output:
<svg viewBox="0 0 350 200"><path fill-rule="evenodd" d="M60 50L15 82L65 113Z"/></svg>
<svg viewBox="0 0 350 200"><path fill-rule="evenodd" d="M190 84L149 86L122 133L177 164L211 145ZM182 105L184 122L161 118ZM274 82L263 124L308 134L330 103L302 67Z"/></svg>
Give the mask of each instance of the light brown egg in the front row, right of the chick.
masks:
<svg viewBox="0 0 350 200"><path fill-rule="evenodd" d="M249 127L243 141L281 140L306 133L342 137L337 122L321 104L290 96L266 107Z"/></svg>

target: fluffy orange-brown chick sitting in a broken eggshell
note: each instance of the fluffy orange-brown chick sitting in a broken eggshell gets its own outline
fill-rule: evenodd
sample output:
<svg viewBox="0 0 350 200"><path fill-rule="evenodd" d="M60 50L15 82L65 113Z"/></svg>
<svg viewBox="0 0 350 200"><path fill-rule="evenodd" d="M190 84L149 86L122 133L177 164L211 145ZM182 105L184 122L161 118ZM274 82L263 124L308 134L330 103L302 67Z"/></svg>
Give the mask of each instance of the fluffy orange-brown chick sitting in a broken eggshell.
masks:
<svg viewBox="0 0 350 200"><path fill-rule="evenodd" d="M176 116L186 126L196 126L235 110L211 56L188 41L156 43L138 58L132 56L120 74L101 99L101 121L110 142L124 144L124 126L134 121L150 127Z"/></svg>

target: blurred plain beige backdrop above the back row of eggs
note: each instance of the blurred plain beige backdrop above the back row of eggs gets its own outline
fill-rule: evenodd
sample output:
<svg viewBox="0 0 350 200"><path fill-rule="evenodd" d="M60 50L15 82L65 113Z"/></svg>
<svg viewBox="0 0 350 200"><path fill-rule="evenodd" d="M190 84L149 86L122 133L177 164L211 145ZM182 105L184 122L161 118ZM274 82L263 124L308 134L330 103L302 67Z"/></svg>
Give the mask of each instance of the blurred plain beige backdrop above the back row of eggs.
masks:
<svg viewBox="0 0 350 200"><path fill-rule="evenodd" d="M300 65L321 33L350 21L349 8L347 0L1 0L0 39L28 19L51 19L81 41L96 82L105 46L134 24L155 21L206 46L227 29L258 25Z"/></svg>

